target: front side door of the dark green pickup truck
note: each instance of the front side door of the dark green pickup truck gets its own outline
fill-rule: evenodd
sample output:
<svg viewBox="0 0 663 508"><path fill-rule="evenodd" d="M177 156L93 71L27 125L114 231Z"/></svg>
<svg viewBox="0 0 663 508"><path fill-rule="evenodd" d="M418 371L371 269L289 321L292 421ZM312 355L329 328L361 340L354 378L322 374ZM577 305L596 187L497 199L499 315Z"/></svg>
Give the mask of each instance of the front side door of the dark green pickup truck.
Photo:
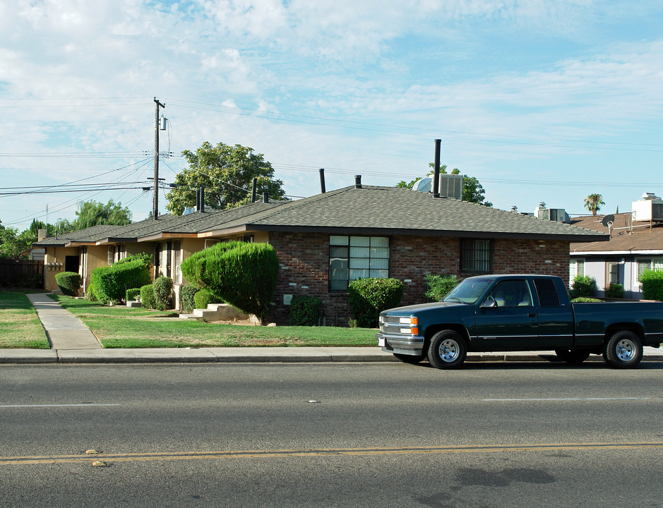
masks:
<svg viewBox="0 0 663 508"><path fill-rule="evenodd" d="M477 311L474 339L481 351L537 349L539 317L525 279L496 284Z"/></svg>

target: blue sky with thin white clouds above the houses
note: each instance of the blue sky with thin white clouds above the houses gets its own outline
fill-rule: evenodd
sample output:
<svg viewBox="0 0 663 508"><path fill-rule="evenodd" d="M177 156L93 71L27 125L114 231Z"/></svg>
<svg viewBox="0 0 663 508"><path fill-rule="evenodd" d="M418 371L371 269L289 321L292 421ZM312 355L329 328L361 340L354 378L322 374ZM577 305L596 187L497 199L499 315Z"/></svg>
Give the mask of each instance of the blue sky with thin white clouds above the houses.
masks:
<svg viewBox="0 0 663 508"><path fill-rule="evenodd" d="M318 168L395 185L441 138L495 207L625 212L663 195L662 92L659 0L0 0L0 221L147 217L151 192L119 187L150 185L153 97L166 183L209 141L264 154L291 196Z"/></svg>

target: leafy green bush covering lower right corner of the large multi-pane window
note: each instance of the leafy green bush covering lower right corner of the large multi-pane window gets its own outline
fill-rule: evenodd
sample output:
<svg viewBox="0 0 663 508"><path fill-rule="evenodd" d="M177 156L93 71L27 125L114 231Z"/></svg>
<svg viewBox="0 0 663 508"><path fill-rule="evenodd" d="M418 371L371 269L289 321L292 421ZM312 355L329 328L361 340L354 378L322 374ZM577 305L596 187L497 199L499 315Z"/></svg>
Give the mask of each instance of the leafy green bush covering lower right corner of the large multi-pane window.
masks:
<svg viewBox="0 0 663 508"><path fill-rule="evenodd" d="M377 327L380 313L398 307L403 297L403 283L398 279L357 279L347 290L352 318L362 328Z"/></svg>

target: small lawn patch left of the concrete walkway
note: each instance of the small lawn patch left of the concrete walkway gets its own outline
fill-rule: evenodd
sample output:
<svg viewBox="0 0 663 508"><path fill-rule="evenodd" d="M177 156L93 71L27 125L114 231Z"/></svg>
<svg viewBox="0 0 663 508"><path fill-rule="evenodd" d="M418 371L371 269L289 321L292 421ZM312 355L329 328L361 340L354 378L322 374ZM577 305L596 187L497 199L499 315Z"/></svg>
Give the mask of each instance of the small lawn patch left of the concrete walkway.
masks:
<svg viewBox="0 0 663 508"><path fill-rule="evenodd" d="M50 347L44 327L25 291L0 291L0 348Z"/></svg>

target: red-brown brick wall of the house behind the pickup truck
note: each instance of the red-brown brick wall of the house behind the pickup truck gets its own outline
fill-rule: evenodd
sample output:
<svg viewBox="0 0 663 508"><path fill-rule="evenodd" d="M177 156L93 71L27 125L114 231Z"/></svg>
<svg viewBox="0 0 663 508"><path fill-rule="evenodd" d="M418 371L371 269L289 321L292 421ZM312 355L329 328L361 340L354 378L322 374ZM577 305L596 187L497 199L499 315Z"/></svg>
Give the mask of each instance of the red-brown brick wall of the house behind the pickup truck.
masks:
<svg viewBox="0 0 663 508"><path fill-rule="evenodd" d="M281 270L269 320L287 324L284 295L321 298L327 325L347 326L350 308L347 294L328 289L329 235L271 232ZM538 273L558 275L568 281L568 241L496 239L493 243L494 273ZM426 274L460 273L460 239L431 236L391 238L391 277L404 282L402 305L426 301Z"/></svg>

